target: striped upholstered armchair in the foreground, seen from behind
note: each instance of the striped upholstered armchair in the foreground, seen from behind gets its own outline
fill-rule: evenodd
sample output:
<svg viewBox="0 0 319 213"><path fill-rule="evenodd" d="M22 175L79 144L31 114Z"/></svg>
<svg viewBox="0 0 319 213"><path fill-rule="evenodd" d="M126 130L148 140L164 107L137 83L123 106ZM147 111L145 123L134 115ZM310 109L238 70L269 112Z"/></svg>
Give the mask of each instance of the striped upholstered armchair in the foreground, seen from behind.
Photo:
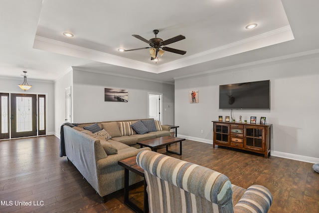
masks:
<svg viewBox="0 0 319 213"><path fill-rule="evenodd" d="M223 174L152 151L137 155L144 169L151 213L267 213L270 191L260 185L247 190Z"/></svg>

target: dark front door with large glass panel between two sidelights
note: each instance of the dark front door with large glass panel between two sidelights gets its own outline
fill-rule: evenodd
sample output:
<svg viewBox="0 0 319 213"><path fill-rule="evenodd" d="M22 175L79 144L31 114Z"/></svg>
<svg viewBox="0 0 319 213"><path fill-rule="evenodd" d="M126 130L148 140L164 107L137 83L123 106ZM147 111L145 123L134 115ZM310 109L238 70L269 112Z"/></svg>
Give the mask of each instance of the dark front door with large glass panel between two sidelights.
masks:
<svg viewBox="0 0 319 213"><path fill-rule="evenodd" d="M36 95L11 94L11 138L36 136Z"/></svg>

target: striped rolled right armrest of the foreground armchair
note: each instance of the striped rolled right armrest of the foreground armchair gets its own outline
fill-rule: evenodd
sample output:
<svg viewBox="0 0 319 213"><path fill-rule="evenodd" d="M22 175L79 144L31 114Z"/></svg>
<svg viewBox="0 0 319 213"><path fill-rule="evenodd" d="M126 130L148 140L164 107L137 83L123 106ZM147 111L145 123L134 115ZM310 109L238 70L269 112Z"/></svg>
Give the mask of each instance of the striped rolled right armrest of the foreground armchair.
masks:
<svg viewBox="0 0 319 213"><path fill-rule="evenodd" d="M272 201L273 196L266 187L253 185L234 206L234 213L267 213Z"/></svg>

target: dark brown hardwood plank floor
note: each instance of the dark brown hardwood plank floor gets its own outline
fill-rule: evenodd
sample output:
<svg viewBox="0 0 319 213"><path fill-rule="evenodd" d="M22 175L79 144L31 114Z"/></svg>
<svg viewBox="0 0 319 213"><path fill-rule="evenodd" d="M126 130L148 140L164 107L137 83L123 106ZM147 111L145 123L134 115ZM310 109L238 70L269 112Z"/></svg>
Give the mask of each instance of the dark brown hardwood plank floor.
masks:
<svg viewBox="0 0 319 213"><path fill-rule="evenodd" d="M170 150L178 148L173 144ZM165 153L165 148L159 153ZM183 142L182 156L165 154L214 169L243 188L267 187L274 197L270 213L319 213L319 174L313 171L313 164L264 159L190 140ZM0 141L0 163L1 213L133 212L124 205L123 190L103 203L73 164L59 157L55 136ZM132 199L141 203L142 192L143 187L134 190Z"/></svg>

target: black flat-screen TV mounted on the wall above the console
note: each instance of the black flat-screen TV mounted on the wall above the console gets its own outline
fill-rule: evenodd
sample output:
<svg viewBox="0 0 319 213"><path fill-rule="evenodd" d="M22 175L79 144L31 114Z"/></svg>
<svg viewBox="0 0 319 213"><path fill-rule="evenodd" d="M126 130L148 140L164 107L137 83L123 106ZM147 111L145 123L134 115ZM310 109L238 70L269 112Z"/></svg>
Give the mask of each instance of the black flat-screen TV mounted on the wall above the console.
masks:
<svg viewBox="0 0 319 213"><path fill-rule="evenodd" d="M220 85L219 109L270 109L270 80Z"/></svg>

